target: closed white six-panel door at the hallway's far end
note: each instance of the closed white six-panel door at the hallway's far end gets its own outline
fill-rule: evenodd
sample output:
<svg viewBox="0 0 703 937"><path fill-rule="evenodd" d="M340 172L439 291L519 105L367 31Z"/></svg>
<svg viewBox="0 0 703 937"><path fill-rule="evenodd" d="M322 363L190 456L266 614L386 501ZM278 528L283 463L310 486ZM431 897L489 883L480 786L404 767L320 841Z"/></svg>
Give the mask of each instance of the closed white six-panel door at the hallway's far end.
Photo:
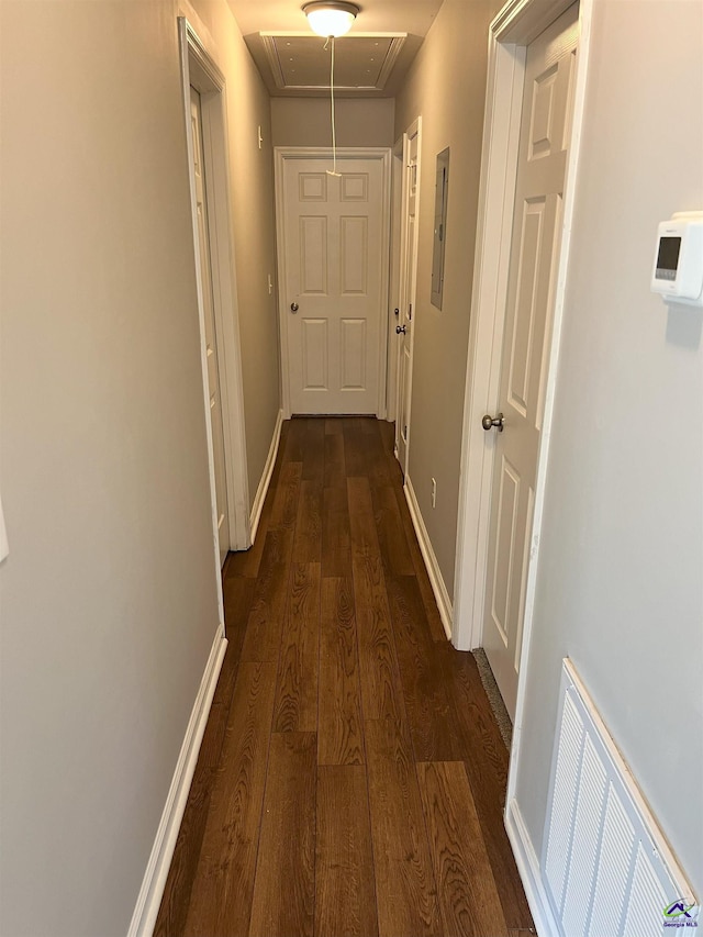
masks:
<svg viewBox="0 0 703 937"><path fill-rule="evenodd" d="M288 409L300 414L380 414L388 157L338 158L338 176L326 171L328 165L328 157L286 157L279 179Z"/></svg>

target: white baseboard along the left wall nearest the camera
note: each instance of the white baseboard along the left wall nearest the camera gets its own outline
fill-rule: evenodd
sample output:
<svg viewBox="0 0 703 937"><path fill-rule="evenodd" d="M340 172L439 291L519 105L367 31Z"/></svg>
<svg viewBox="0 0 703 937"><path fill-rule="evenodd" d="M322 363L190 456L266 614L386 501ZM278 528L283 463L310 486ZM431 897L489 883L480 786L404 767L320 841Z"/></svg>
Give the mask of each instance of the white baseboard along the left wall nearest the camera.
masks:
<svg viewBox="0 0 703 937"><path fill-rule="evenodd" d="M144 873L140 896L132 915L132 923L127 937L150 937L156 924L156 916L164 896L166 879L174 857L176 840L180 829L181 819L186 810L186 802L190 792L190 784L196 771L200 745L205 732L210 706L214 696L217 678L222 668L224 652L227 649L222 626L217 626L214 642L210 650L210 657L205 666L200 689L196 696L183 744L178 756L176 771L171 787L166 797L166 805L161 814L161 822L156 832L156 839L152 848L152 855Z"/></svg>

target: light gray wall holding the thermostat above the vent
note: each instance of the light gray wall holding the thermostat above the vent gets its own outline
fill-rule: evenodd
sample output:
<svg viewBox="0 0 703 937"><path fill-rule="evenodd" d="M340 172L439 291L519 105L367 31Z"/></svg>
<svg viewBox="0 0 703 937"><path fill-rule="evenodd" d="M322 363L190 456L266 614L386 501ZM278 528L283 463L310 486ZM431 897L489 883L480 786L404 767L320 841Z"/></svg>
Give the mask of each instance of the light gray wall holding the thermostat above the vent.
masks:
<svg viewBox="0 0 703 937"><path fill-rule="evenodd" d="M595 2L516 789L539 852L568 655L699 895L703 313L649 277L703 209L702 35L700 3Z"/></svg>

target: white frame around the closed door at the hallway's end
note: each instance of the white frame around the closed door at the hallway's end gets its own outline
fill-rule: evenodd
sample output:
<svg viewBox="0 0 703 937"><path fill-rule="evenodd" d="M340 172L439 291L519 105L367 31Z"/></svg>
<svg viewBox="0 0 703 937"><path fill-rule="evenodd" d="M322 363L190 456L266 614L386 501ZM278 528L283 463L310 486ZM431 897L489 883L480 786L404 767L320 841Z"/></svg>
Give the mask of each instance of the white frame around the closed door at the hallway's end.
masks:
<svg viewBox="0 0 703 937"><path fill-rule="evenodd" d="M276 243L278 246L278 282L279 301L278 314L280 324L281 343L281 397L283 420L290 420L290 373L288 368L288 298L286 293L287 268L284 237L284 191L283 169L287 159L326 159L332 158L330 147L320 146L277 146L274 149L276 159ZM386 420L387 408L387 372L388 372L388 328L383 311L388 309L389 282L390 282L390 230L391 230L391 149L387 146L345 146L337 147L337 160L344 159L373 159L380 160L383 170L383 205L381 220L381 308L379 309L381 347L379 348L379 375L378 375L378 403L376 415L379 420Z"/></svg>

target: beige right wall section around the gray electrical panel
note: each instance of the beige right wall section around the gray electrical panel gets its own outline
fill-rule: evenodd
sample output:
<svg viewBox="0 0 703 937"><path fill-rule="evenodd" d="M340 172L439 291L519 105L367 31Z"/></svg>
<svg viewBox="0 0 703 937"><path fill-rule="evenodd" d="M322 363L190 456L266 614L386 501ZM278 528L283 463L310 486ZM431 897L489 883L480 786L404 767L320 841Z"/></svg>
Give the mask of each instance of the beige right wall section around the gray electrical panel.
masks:
<svg viewBox="0 0 703 937"><path fill-rule="evenodd" d="M461 421L488 26L495 2L445 0L395 104L395 136L422 115L420 256L409 476L449 594L454 590ZM450 148L443 309L431 303L435 161ZM437 480L433 510L431 479Z"/></svg>

